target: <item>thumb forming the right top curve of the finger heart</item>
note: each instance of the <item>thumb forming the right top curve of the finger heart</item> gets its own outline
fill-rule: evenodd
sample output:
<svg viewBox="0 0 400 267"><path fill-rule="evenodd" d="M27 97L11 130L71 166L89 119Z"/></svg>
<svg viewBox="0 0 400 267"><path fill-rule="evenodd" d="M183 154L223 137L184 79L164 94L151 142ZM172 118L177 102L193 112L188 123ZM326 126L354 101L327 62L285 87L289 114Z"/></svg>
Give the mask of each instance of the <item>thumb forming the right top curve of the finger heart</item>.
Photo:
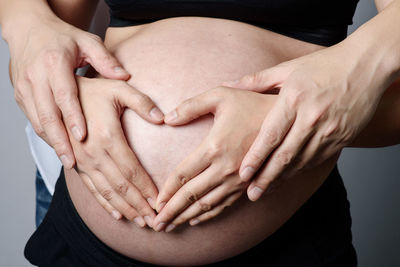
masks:
<svg viewBox="0 0 400 267"><path fill-rule="evenodd" d="M165 115L164 122L169 125L182 125L208 113L215 113L218 102L217 90L211 89L191 97Z"/></svg>

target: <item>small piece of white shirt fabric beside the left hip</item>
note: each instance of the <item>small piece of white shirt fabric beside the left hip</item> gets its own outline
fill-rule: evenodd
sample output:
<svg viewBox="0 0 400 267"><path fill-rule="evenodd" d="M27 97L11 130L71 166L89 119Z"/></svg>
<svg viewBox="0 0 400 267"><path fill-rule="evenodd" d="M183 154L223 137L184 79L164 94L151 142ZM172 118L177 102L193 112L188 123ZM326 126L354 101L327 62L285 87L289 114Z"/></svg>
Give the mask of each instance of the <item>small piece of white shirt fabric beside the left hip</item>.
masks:
<svg viewBox="0 0 400 267"><path fill-rule="evenodd" d="M35 164L47 189L53 195L54 187L60 176L62 163L54 149L35 133L29 122L25 127L25 133Z"/></svg>

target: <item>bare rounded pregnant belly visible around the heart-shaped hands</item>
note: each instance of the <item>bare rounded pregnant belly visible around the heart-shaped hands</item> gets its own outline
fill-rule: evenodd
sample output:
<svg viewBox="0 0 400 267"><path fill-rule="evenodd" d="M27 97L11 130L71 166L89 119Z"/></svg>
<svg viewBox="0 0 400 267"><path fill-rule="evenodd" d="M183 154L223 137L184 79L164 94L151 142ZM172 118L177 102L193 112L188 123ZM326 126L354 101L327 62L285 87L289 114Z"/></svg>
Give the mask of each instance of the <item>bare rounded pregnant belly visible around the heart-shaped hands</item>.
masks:
<svg viewBox="0 0 400 267"><path fill-rule="evenodd" d="M105 42L132 74L129 84L164 112L223 81L321 48L240 22L195 17L112 28ZM182 127L151 125L130 110L123 116L128 141L159 190L212 124L212 116ZM317 190L334 164L303 173L255 203L242 197L219 217L171 233L113 220L75 171L67 171L66 180L79 215L109 247L144 262L188 266L232 257L267 238Z"/></svg>

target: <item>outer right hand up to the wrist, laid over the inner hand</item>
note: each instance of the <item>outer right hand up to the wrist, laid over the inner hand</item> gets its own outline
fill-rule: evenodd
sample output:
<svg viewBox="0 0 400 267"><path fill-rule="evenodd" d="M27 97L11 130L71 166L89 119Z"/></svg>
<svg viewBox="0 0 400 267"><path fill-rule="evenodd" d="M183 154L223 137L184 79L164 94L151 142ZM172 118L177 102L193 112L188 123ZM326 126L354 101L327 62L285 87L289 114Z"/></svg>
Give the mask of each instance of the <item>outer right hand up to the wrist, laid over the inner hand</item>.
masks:
<svg viewBox="0 0 400 267"><path fill-rule="evenodd" d="M363 66L355 55L334 46L224 83L257 92L280 88L240 167L242 181L260 173L248 188L250 200L283 171L313 168L336 155L372 118L386 85L375 65Z"/></svg>

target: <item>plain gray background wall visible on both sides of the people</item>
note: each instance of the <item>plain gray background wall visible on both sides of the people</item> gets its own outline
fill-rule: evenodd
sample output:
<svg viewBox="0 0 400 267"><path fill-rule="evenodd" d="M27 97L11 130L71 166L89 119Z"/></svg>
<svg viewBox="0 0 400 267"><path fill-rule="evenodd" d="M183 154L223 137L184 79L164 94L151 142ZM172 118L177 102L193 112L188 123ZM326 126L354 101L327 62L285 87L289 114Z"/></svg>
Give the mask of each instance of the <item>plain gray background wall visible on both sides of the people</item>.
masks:
<svg viewBox="0 0 400 267"><path fill-rule="evenodd" d="M350 32L376 14L361 0ZM30 266L24 245L34 231L34 163L26 119L8 79L9 54L0 41L0 266ZM399 118L397 118L399 119ZM348 189L359 266L400 266L400 146L345 149L339 168Z"/></svg>

